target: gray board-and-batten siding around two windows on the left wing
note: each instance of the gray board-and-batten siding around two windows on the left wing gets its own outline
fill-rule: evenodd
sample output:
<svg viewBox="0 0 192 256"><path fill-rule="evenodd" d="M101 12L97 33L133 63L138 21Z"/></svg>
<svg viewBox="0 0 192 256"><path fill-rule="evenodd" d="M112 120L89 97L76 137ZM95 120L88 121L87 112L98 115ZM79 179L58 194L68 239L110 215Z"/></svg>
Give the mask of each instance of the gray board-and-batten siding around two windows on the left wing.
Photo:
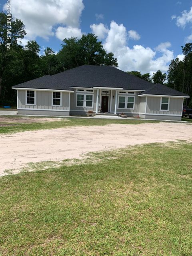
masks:
<svg viewBox="0 0 192 256"><path fill-rule="evenodd" d="M68 110L69 111L69 92L61 92L61 106L52 106L52 92L36 91L36 104L26 104L26 90L18 90L18 108L31 108L39 110Z"/></svg>

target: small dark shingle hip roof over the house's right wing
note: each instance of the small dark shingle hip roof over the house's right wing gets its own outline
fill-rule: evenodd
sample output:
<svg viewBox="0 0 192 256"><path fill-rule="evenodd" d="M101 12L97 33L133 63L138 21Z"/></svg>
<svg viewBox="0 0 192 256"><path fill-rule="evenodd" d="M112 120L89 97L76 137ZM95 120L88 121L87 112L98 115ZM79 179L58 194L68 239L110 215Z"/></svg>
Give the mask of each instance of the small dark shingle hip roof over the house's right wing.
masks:
<svg viewBox="0 0 192 256"><path fill-rule="evenodd" d="M176 91L168 86L163 84L154 84L151 88L147 89L145 92L140 92L138 95L143 94L155 94L155 95L170 95L170 96L188 96L182 92Z"/></svg>

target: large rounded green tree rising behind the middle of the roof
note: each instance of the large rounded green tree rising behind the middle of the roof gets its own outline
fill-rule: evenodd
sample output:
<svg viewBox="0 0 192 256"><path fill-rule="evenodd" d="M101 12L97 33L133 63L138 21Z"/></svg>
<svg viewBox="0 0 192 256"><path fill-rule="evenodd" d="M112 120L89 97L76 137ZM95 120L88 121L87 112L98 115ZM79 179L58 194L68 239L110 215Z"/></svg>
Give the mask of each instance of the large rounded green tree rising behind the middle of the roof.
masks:
<svg viewBox="0 0 192 256"><path fill-rule="evenodd" d="M107 53L102 42L98 41L97 36L92 33L83 34L80 39L65 38L58 58L64 69L75 68L84 64L118 66L113 53Z"/></svg>

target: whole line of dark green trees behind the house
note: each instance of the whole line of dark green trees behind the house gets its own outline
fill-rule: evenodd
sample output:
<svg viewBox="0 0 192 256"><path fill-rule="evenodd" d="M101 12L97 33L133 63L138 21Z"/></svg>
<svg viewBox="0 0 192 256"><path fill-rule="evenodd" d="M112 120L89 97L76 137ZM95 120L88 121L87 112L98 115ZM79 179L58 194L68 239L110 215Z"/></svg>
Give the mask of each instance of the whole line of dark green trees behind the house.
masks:
<svg viewBox="0 0 192 256"><path fill-rule="evenodd" d="M112 52L107 53L101 41L92 33L83 34L81 38L64 39L61 49L55 53L51 48L44 49L40 55L40 46L35 40L28 41L26 46L19 42L26 35L25 26L19 19L12 19L10 37L6 30L7 16L0 13L0 105L16 105L16 91L11 87L44 75L75 68L84 64L118 66ZM10 50L7 49L11 43ZM142 74L139 71L128 71L129 74L153 82L165 84L175 90L188 94L185 104L192 107L192 43L182 46L184 60L172 60L167 74L160 70ZM166 83L165 83L166 82Z"/></svg>

